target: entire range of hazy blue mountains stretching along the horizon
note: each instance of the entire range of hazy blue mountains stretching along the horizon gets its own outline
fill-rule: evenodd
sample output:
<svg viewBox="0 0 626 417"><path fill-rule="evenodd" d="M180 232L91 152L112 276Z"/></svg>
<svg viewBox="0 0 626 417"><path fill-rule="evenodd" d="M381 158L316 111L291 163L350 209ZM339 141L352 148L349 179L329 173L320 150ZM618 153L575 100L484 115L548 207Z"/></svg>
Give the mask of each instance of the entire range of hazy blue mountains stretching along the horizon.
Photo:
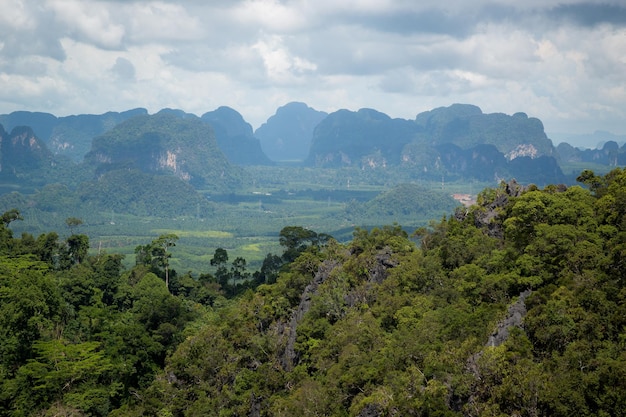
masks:
<svg viewBox="0 0 626 417"><path fill-rule="evenodd" d="M469 104L407 120L374 109L327 114L294 102L256 131L229 107L201 117L177 109L66 117L18 111L0 115L0 125L5 177L63 164L65 158L85 162L96 175L124 167L223 189L240 181L237 166L300 161L309 167L396 167L414 178L545 184L566 181L559 162L626 163L626 148L615 141L594 150L567 143L555 148L539 119L485 114Z"/></svg>

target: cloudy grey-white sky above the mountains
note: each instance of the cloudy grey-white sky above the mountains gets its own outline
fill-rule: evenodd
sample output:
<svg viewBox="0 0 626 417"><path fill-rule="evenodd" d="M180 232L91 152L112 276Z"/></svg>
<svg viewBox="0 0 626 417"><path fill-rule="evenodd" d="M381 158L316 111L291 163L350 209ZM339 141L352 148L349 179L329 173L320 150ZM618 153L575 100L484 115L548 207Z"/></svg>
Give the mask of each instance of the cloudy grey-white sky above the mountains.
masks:
<svg viewBox="0 0 626 417"><path fill-rule="evenodd" d="M626 134L623 0L2 0L0 113L452 103Z"/></svg>

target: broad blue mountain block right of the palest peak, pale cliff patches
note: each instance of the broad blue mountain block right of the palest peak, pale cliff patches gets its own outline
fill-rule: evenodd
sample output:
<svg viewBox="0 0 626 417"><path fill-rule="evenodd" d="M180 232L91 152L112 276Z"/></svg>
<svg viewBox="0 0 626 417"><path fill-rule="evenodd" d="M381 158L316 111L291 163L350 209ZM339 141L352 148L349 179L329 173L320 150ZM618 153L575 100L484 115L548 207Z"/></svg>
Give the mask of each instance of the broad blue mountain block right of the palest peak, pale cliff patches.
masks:
<svg viewBox="0 0 626 417"><path fill-rule="evenodd" d="M307 163L384 169L402 166L424 178L563 182L551 141L538 119L483 114L456 104L415 121L362 109L340 110L316 127Z"/></svg>

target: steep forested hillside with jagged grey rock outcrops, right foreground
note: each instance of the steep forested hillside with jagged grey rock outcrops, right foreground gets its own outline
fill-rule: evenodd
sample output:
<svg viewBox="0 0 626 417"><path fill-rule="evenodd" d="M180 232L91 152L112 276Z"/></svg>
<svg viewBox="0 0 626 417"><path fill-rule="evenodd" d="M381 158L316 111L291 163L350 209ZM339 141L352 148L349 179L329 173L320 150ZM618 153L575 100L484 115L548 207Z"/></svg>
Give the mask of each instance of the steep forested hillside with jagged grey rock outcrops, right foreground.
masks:
<svg viewBox="0 0 626 417"><path fill-rule="evenodd" d="M621 415L626 177L580 179L309 247L117 415Z"/></svg>

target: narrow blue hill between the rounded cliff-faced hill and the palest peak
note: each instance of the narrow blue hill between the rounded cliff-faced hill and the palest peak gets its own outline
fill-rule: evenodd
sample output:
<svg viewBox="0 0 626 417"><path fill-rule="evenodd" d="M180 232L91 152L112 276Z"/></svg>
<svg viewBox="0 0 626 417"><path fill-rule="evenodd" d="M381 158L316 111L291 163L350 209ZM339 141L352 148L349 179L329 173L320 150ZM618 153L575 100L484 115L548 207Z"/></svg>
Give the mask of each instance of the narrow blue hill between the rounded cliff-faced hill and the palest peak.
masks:
<svg viewBox="0 0 626 417"><path fill-rule="evenodd" d="M204 113L201 120L211 125L217 144L230 162L238 165L269 165L272 162L252 133L252 126L230 107Z"/></svg>

